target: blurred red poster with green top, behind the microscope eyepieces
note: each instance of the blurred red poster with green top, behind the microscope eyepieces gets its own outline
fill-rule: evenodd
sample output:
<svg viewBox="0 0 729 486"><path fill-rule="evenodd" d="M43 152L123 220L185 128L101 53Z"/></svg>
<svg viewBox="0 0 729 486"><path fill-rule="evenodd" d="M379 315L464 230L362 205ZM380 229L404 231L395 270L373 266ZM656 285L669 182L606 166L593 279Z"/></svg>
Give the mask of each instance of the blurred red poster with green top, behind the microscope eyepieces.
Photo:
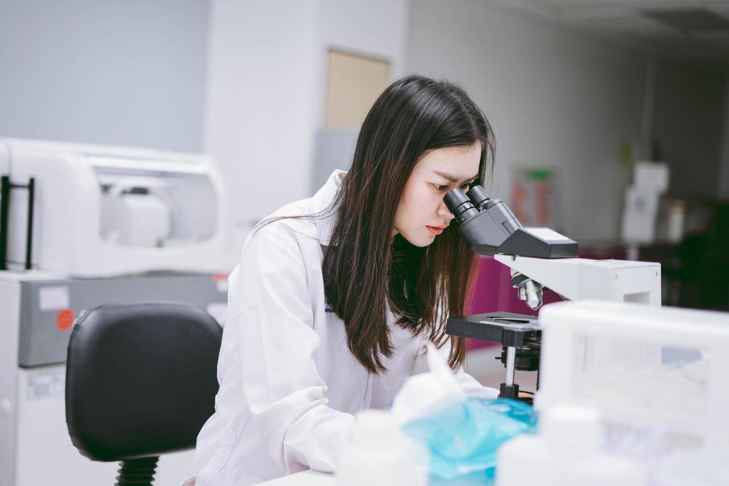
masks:
<svg viewBox="0 0 729 486"><path fill-rule="evenodd" d="M562 230L558 173L550 168L515 168L512 177L511 208L526 227Z"/></svg>

